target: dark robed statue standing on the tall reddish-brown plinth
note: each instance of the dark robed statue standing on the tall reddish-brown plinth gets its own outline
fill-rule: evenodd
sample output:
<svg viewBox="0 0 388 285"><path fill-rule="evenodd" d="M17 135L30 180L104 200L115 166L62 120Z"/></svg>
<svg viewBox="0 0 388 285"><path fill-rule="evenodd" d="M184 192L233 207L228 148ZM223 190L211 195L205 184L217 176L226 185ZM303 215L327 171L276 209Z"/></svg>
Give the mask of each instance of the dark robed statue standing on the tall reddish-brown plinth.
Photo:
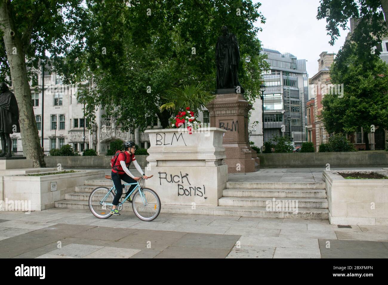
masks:
<svg viewBox="0 0 388 285"><path fill-rule="evenodd" d="M216 45L217 89L240 86L237 76L240 52L236 35L228 33L226 26L221 28L222 36Z"/></svg>

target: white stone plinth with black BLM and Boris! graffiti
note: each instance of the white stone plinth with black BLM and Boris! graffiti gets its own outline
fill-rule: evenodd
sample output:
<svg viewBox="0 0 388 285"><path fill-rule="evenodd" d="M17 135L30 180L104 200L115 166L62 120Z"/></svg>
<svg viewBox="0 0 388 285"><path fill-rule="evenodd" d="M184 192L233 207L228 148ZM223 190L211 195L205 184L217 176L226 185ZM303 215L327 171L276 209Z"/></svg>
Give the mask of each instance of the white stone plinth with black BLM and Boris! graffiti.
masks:
<svg viewBox="0 0 388 285"><path fill-rule="evenodd" d="M226 188L227 165L222 138L225 130L200 128L190 135L187 129L146 130L145 187L155 190L162 204L218 206Z"/></svg>

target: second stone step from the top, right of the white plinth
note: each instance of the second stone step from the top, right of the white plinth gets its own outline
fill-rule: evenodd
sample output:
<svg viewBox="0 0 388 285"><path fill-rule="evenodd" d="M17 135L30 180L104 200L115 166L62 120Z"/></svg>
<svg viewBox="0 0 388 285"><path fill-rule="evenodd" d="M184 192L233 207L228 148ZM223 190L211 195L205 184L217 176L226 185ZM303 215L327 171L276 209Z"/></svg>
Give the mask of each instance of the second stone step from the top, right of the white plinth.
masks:
<svg viewBox="0 0 388 285"><path fill-rule="evenodd" d="M326 198L324 189L249 189L226 188L223 197L290 197L290 198Z"/></svg>

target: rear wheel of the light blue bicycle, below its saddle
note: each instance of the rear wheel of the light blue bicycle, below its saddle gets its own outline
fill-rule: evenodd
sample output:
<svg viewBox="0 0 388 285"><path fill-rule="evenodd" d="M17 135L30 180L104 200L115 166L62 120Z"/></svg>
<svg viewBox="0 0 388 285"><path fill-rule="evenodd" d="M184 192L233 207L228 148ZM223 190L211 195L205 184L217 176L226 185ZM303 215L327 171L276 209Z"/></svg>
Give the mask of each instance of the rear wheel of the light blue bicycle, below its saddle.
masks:
<svg viewBox="0 0 388 285"><path fill-rule="evenodd" d="M113 203L114 194L113 192L109 192L109 189L106 187L97 187L95 188L89 196L89 209L94 216L99 219L107 219L111 214L111 205ZM106 197L107 196L107 197ZM104 199L104 197L106 197Z"/></svg>

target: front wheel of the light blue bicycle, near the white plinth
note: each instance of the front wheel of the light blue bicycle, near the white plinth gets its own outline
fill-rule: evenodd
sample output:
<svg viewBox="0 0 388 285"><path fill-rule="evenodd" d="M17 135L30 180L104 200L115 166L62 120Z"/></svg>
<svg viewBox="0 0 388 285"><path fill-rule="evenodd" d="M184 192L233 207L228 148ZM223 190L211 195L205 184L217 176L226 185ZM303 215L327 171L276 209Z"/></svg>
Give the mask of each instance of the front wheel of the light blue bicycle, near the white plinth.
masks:
<svg viewBox="0 0 388 285"><path fill-rule="evenodd" d="M141 188L133 194L132 209L137 218L142 221L152 221L160 213L158 194L150 188Z"/></svg>

